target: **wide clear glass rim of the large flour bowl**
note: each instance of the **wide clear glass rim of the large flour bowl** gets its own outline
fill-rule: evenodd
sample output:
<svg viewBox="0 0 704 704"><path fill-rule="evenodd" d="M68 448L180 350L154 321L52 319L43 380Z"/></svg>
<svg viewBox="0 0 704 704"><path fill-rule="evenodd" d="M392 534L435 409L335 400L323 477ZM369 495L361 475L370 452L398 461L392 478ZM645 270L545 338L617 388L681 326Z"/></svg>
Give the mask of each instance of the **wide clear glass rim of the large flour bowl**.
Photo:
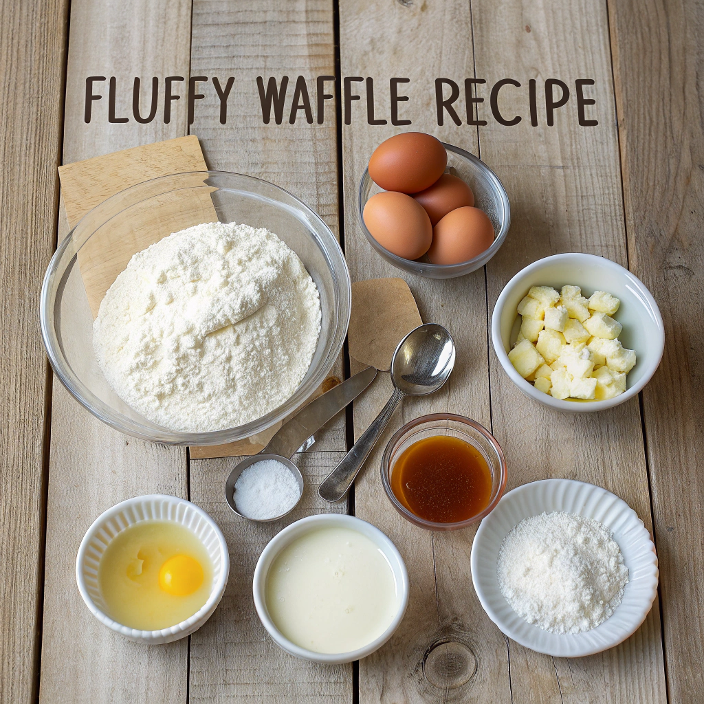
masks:
<svg viewBox="0 0 704 704"><path fill-rule="evenodd" d="M166 181L175 177L203 174L208 174L208 176L237 177L246 181L260 182L261 184L265 184L266 186L271 187L272 189L274 189L275 193L283 194L287 198L294 201L294 205L296 206L296 208L298 208L298 212L303 213L306 218L309 218L313 222L317 223L319 227L322 227L322 231L325 232L327 236L329 236L330 241L333 243L332 251L337 254L337 256L339 257L339 263L341 264L338 276L341 283L341 302L345 303L346 301L346 306L344 306L346 310L335 311L336 317L339 318L339 324L334 326L335 329L333 330L332 334L332 346L330 347L327 358L325 358L325 362L322 363L318 372L311 377L311 379L316 379L318 383L311 386L310 394L313 394L315 392L315 389L320 386L320 384L324 381L325 377L329 373L329 370L332 369L332 365L334 365L335 360L339 356L339 353L344 344L344 340L346 339L347 329L349 327L349 320L351 315L351 277L347 266L347 261L344 255L344 251L342 251L339 239L335 237L334 232L332 232L329 225L327 225L325 220L322 220L320 215L318 215L318 213L316 213L313 208L307 206L306 203L303 203L301 199L299 199L297 196L294 196L294 194L292 194L290 191L287 191L286 189L277 186L276 184L273 184L264 179L260 179L256 176L249 176L247 174L241 174L232 171L220 171L213 169L184 171L164 174L161 176L144 180L137 184L133 184L132 186L118 191L109 198L104 199L100 203L97 203L96 206L91 208L87 213L85 213L85 215L83 215L83 217L69 230L68 234L66 234L66 236L61 240L61 242L58 243L56 251L51 257L49 265L46 268L46 273L44 274L44 279L42 280L42 289L39 295L39 327L41 329L42 341L44 342L46 356L49 358L49 363L51 363L52 370L54 370L54 373L60 379L65 389L68 390L70 395L73 396L73 398L75 398L75 400L78 401L81 406L83 406L86 410L89 411L89 413L94 415L96 418L106 423L106 425L113 427L114 429L118 430L123 434L127 434L150 442L156 442L159 444L181 446L210 446L227 444L240 439L244 439L246 437L251 436L252 434L256 434L257 432L262 432L268 427L274 425L279 420L284 420L285 417L287 417L291 413L294 413L294 411L299 406L301 406L302 403L305 403L305 401L307 401L310 397L310 394L301 394L301 397L297 399L297 403L289 403L291 401L291 398L295 398L298 392L300 391L301 386L303 386L303 382L301 382L301 384L298 386L298 389L294 391L294 394L286 401L284 401L284 403L282 403L277 408L271 410L270 413L267 413L266 415L263 415L259 418L255 418L254 420L249 423L246 423L245 425L240 425L232 428L223 428L220 430L213 430L208 432L184 432L162 427L158 427L158 429L153 429L148 425L144 425L144 423L142 422L132 420L131 418L120 413L120 411L113 409L108 403L106 403L101 398L96 396L92 391L90 391L90 389L88 389L87 386L85 386L85 384L81 381L81 379L77 377L77 375L75 375L75 372L73 372L68 363L65 362L65 356L63 354L63 351L61 351L61 341L59 341L59 339L56 337L56 333L54 332L54 308L56 304L56 296L54 297L53 301L49 301L49 296L50 289L52 289L52 287L58 290L62 289L65 285L64 279L66 276L67 268L66 266L61 268L61 264L63 263L63 259L66 256L66 251L68 250L70 244L74 241L76 230L82 225L84 220L86 220L86 218L88 218L88 216L94 212L94 210L97 210L98 208L105 208L108 203L113 203L117 201L120 197L124 197L125 194L130 191L138 191L140 188L144 188L147 184L153 184L154 182L158 181ZM207 184L203 183L203 187L207 187ZM187 188L192 189L194 187ZM172 192L175 190L178 189L170 189L169 191L164 192ZM125 207L131 207L140 202L143 201L135 201L134 203L130 203ZM122 208L121 210L124 209L125 208ZM113 213L113 215L111 215L111 217L108 218L106 222L108 222L115 215L116 214ZM92 234L89 235L87 239L92 237ZM323 254L327 262L327 260L329 259L328 252L321 251L321 253ZM73 260L73 258L75 258L76 256L77 253L74 252L73 256L71 257L71 260ZM54 283L56 277L61 277L58 280L57 284ZM51 303L54 303L54 305L51 305ZM308 383L310 385L310 380ZM262 420L264 418L267 420L263 424Z"/></svg>

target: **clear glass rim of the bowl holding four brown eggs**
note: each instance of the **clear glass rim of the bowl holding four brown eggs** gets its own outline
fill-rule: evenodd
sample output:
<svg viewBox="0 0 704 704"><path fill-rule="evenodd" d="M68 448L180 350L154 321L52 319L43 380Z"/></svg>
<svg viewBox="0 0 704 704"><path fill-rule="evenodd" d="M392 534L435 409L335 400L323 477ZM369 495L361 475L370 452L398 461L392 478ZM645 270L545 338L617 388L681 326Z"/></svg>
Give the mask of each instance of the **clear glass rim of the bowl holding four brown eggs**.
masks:
<svg viewBox="0 0 704 704"><path fill-rule="evenodd" d="M408 266L413 267L414 264L420 265L424 269L427 268L427 270L435 272L448 271L456 268L465 269L481 262L487 256L487 260L489 260L496 254L496 252L498 252L499 249L501 249L501 246L503 245L506 237L508 236L508 230L511 226L511 206L508 200L508 194L506 193L506 189L504 188L503 183L501 183L501 180L494 173L494 171L491 170L491 168L489 168L489 166L487 166L486 163L484 163L478 156L474 156L474 154L465 151L465 149L460 149L460 147L454 146L453 144L446 144L446 142L440 142L440 144L442 144L442 146L444 146L446 150L452 151L458 156L465 158L467 161L477 166L480 171L486 173L486 176L489 177L489 180L494 183L496 191L501 196L501 204L505 211L505 219L501 226L501 232L496 235L496 239L494 239L494 241L491 243L489 249L485 249L483 252L477 254L477 256L472 257L471 259L467 259L464 262L458 262L456 264L433 264L431 262L420 263L413 259L404 259L403 257L400 257L397 254L390 252L382 244L379 244L379 242L377 242L377 240L372 237L372 233L367 230L367 226L365 225L363 218L363 210L365 203L362 203L362 189L365 180L367 180L367 178L371 180L371 177L369 175L369 166L367 165L367 168L365 168L364 173L362 174L362 177L359 182L359 187L357 189L357 214L360 226L362 227L362 232L364 232L365 237L367 238L367 240L370 241L370 244L373 243L373 246L378 247L380 250L382 250L384 252L384 256L387 256L389 258L389 261L394 264L396 268L401 269L403 271L406 271L406 267Z"/></svg>

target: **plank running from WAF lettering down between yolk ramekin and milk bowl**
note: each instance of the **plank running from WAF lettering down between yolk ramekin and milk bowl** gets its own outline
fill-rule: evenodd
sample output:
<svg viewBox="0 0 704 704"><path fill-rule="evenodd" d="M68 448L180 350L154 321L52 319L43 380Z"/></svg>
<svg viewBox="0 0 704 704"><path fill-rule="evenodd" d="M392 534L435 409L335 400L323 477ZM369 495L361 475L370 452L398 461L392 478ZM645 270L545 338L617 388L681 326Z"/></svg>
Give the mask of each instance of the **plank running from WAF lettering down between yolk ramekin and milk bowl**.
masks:
<svg viewBox="0 0 704 704"><path fill-rule="evenodd" d="M332 101L322 125L299 112L289 123L296 79L308 79L315 110L315 77L334 75L332 1L290 3L265 0L225 4L195 0L191 74L235 76L227 125L220 123L214 92L200 101L191 131L198 134L210 168L260 177L287 189L338 230L337 137ZM281 125L263 124L256 77L280 82L289 76ZM332 92L332 83L327 83ZM341 360L333 375L342 378ZM316 433L314 452L299 461L306 495L294 520L331 510L316 486L345 449L344 414ZM191 701L327 702L352 700L351 665L315 667L279 650L265 635L253 610L251 577L256 560L282 523L263 526L238 520L223 501L225 479L236 460L191 461L191 498L214 515L230 547L230 583L220 608L191 638ZM346 506L337 507L339 511Z"/></svg>

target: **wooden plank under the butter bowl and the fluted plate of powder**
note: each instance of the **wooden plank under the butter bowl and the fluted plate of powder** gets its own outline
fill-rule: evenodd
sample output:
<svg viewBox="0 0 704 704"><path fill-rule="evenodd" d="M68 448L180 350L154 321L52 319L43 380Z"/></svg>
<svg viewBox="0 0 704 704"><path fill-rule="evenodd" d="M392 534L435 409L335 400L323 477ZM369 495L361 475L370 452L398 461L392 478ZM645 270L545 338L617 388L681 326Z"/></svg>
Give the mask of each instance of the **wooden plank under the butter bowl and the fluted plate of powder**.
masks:
<svg viewBox="0 0 704 704"><path fill-rule="evenodd" d="M554 4L520 1L472 3L477 76L489 86L515 76L500 102L504 115L522 122L503 127L491 118L479 132L482 158L501 178L511 199L509 237L487 266L489 307L508 279L530 261L560 251L588 251L627 264L618 137L614 116L608 18L605 5L586 0ZM587 41L586 38L589 38ZM575 38L579 40L575 41ZM582 39L584 38L584 39ZM501 47L499 50L498 47ZM529 120L527 82L537 78L538 122ZM596 99L578 124L568 103L546 125L544 78L570 84L591 78L585 93ZM570 282L565 282L570 283ZM609 411L569 415L524 398L491 352L494 433L509 467L509 487L545 477L592 482L624 498L650 528L648 477L636 399ZM510 643L513 700L665 702L658 605L622 646L601 655L561 662Z"/></svg>

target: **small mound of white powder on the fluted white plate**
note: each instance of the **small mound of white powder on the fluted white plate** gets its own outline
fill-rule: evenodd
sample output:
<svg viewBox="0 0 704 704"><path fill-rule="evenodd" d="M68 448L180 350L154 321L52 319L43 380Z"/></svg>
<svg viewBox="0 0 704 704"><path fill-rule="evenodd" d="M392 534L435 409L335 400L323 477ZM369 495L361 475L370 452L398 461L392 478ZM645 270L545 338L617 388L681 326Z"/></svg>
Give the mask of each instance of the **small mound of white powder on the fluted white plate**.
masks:
<svg viewBox="0 0 704 704"><path fill-rule="evenodd" d="M511 608L552 633L582 633L608 619L628 583L605 525L553 511L524 518L501 543L498 583Z"/></svg>

